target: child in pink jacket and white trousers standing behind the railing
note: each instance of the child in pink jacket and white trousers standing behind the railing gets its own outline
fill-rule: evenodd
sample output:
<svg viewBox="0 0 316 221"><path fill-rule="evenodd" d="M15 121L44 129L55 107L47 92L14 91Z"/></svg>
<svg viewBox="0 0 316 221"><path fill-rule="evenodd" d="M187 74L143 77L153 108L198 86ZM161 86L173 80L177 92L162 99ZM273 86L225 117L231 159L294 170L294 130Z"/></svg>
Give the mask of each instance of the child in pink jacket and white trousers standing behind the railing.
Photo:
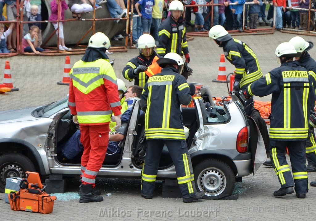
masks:
<svg viewBox="0 0 316 221"><path fill-rule="evenodd" d="M50 21L56 21L58 20L58 5L61 5L61 8L59 9L59 19L64 20L65 19L65 9L68 9L68 5L65 2L65 0L52 0L51 2L51 8L52 8L52 14L49 17ZM65 40L64 40L64 29L63 29L63 23L64 22L52 22L55 30L58 28L59 23L59 41L58 41L58 49L60 51L70 51L71 48L68 48L65 46ZM56 35L58 35L58 32L56 32Z"/></svg>

